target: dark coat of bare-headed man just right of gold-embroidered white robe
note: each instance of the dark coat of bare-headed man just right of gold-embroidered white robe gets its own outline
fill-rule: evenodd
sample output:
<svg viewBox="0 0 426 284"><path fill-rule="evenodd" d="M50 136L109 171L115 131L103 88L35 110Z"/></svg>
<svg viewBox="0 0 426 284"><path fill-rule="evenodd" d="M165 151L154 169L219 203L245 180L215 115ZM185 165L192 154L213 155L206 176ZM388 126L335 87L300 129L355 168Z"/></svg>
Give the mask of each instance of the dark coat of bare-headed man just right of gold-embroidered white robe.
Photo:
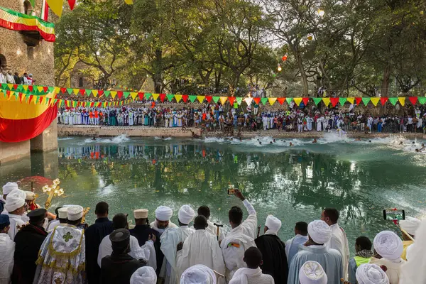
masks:
<svg viewBox="0 0 426 284"><path fill-rule="evenodd" d="M111 234L112 222L108 218L98 218L84 231L86 239L86 274L89 284L99 283L101 268L97 265L99 245L105 236Z"/></svg>

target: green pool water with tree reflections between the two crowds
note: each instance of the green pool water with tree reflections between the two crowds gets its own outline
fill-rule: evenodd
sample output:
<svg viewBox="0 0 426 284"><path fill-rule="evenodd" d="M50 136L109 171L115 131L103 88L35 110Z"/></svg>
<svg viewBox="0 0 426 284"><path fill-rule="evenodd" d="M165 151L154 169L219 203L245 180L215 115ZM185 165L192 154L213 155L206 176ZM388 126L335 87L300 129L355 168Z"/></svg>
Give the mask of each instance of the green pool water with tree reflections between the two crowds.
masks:
<svg viewBox="0 0 426 284"><path fill-rule="evenodd" d="M213 219L227 224L228 209L242 206L227 196L230 182L253 202L259 224L268 214L283 221L284 240L293 236L295 222L310 222L320 218L322 208L336 207L351 246L357 236L373 238L381 229L394 229L382 220L384 208L402 208L414 216L425 209L425 165L416 162L415 154L386 143L299 140L295 148L288 141L259 148L257 139L209 142L60 140L58 175L67 197L54 200L54 206L66 202L94 208L104 200L111 214L131 215L144 207L153 219L160 204L175 213L182 204L195 209L207 204ZM93 222L94 215L87 219Z"/></svg>

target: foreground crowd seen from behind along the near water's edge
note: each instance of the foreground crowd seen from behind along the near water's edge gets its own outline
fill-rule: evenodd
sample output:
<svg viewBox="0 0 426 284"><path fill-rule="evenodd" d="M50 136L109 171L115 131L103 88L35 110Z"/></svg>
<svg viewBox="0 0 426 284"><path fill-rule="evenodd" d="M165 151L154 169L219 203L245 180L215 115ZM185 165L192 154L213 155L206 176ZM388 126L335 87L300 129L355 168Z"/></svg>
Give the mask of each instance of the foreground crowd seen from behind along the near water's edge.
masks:
<svg viewBox="0 0 426 284"><path fill-rule="evenodd" d="M355 256L339 226L337 209L295 224L293 239L282 241L280 219L268 215L263 234L256 209L239 190L241 207L229 209L231 231L210 221L210 209L178 211L160 206L155 220L135 209L109 220L109 205L96 205L96 222L84 223L80 205L64 205L50 214L15 182L3 187L0 214L0 283L231 283L231 284L414 284L425 278L426 223L400 221L403 240L381 231L373 241L359 236ZM0 208L2 209L2 208ZM193 224L192 224L193 223ZM191 226L192 224L192 226ZM416 241L415 241L416 240ZM418 241L417 241L418 240Z"/></svg>

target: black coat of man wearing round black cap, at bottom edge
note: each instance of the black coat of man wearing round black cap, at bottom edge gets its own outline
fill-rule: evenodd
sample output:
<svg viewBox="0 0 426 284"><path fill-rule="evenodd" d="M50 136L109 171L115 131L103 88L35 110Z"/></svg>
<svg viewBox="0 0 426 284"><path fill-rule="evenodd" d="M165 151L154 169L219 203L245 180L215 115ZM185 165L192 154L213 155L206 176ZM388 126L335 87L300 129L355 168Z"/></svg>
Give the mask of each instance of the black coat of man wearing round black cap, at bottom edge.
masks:
<svg viewBox="0 0 426 284"><path fill-rule="evenodd" d="M101 284L129 284L131 275L146 262L137 260L129 254L105 256L102 258Z"/></svg>

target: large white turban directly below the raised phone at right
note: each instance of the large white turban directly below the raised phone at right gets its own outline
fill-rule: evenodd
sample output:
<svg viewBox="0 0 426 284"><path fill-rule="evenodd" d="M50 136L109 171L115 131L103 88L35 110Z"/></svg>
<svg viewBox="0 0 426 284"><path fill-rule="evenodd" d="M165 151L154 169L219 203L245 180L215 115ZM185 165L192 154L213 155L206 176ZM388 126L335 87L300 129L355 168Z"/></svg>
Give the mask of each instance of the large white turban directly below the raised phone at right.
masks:
<svg viewBox="0 0 426 284"><path fill-rule="evenodd" d="M395 261L401 257L404 246L403 241L393 231L381 231L374 237L374 249L383 258Z"/></svg>

